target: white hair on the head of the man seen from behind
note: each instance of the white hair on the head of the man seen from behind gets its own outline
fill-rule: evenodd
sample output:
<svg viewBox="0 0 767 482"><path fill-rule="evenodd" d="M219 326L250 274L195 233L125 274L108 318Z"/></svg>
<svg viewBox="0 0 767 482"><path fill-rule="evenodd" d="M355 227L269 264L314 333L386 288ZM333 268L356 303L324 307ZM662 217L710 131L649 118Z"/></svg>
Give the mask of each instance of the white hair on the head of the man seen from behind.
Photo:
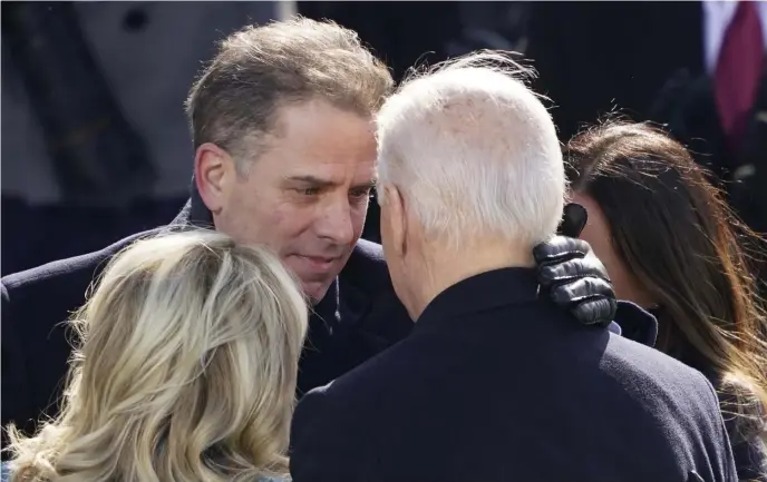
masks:
<svg viewBox="0 0 767 482"><path fill-rule="evenodd" d="M427 235L456 247L484 235L534 245L556 230L562 151L526 73L504 53L472 53L406 80L384 105L379 179Z"/></svg>

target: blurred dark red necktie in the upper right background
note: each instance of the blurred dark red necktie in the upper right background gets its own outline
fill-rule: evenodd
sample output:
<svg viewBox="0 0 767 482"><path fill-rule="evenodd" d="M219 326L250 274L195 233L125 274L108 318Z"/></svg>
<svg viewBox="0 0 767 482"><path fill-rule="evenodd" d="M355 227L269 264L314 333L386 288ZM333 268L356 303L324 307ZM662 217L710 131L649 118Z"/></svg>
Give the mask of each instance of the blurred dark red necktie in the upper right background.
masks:
<svg viewBox="0 0 767 482"><path fill-rule="evenodd" d="M765 51L757 7L754 1L738 2L713 78L719 118L732 149L746 132L763 72Z"/></svg>

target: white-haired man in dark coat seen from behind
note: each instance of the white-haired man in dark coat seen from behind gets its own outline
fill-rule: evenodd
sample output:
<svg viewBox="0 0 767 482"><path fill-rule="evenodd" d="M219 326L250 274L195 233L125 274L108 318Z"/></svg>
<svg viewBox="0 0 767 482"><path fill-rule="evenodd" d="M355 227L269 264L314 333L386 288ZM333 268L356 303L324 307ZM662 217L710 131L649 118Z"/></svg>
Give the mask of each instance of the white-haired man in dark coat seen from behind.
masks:
<svg viewBox="0 0 767 482"><path fill-rule="evenodd" d="M416 326L304 396L294 482L734 480L700 373L538 298L566 181L520 73L469 56L380 111L384 250Z"/></svg>

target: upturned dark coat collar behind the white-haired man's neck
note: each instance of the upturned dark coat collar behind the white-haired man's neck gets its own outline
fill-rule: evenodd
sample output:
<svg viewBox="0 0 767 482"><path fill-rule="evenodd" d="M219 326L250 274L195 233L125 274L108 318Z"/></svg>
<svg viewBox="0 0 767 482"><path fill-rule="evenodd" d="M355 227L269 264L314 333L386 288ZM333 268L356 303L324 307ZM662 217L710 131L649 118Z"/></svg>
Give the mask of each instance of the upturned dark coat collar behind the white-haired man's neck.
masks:
<svg viewBox="0 0 767 482"><path fill-rule="evenodd" d="M414 331L429 329L457 318L506 305L537 299L538 282L531 268L501 268L472 276L448 287L428 304Z"/></svg>

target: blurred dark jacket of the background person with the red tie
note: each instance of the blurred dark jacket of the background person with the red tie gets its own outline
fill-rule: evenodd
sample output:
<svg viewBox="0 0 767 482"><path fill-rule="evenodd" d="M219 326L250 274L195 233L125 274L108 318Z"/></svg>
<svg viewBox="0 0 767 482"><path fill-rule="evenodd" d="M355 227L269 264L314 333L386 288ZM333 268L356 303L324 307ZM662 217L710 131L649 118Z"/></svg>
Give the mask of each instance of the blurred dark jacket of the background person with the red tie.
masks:
<svg viewBox="0 0 767 482"><path fill-rule="evenodd" d="M536 90L556 106L552 115L563 141L615 109L667 125L727 183L722 187L740 216L767 232L767 73L746 140L732 150L703 63L701 2L557 1L530 8L525 55L540 75Z"/></svg>

